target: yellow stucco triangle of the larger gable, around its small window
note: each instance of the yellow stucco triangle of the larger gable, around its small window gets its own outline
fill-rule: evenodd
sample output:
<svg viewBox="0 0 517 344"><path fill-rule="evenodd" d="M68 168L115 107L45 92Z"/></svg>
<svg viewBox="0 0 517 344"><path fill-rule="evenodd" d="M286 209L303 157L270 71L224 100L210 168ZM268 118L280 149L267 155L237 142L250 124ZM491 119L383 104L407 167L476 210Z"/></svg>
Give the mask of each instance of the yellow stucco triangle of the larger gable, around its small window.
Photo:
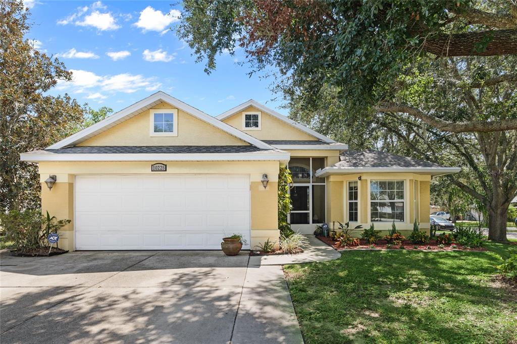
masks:
<svg viewBox="0 0 517 344"><path fill-rule="evenodd" d="M160 103L153 109L174 108ZM150 110L144 111L117 126L87 139L78 146L241 146L247 142L219 128L178 111L178 136L149 136Z"/></svg>

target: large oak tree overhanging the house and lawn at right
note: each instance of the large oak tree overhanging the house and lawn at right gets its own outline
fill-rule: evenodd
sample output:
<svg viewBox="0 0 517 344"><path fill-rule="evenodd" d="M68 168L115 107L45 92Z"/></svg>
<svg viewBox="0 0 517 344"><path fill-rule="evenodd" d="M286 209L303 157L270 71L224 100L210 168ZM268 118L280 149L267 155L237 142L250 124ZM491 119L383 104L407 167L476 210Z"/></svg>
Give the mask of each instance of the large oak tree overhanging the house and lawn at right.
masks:
<svg viewBox="0 0 517 344"><path fill-rule="evenodd" d="M517 159L515 0L186 0L184 8L179 36L207 72L240 45L252 72L278 69L288 100L314 108L331 90L359 123L390 128L407 145L421 140L420 157L440 160L431 159L440 148L460 157L476 183L454 180L487 207L490 239L506 240ZM349 116L340 118L354 125Z"/></svg>

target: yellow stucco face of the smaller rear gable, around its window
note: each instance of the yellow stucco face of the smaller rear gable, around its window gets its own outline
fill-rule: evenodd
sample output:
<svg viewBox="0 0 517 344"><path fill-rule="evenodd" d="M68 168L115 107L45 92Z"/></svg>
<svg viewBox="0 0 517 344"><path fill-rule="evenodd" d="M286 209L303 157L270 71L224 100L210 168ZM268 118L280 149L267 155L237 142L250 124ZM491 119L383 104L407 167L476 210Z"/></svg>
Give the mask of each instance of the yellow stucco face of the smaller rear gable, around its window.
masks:
<svg viewBox="0 0 517 344"><path fill-rule="evenodd" d="M242 112L260 111L253 106L249 106ZM246 130L242 127L242 112L223 120L226 124L244 131L246 134L256 137L261 140L317 140L316 137L309 135L301 130L290 126L271 115L262 111L262 128L261 130Z"/></svg>

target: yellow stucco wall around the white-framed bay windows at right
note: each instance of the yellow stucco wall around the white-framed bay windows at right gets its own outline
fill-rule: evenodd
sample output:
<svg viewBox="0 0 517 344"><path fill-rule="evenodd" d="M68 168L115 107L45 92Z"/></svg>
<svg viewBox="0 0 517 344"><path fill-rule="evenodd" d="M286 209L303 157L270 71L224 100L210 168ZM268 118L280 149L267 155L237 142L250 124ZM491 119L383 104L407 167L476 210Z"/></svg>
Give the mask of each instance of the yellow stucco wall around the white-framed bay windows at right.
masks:
<svg viewBox="0 0 517 344"><path fill-rule="evenodd" d="M415 212L413 206L413 181L417 180L417 207L418 219L420 223L420 229L429 232L429 197L430 197L430 176L417 175L410 173L383 173L383 174L353 174L353 175L342 175L342 176L330 176L327 177L327 221L332 227L334 225L338 227L337 221L345 223L348 221L348 194L347 194L347 182L356 181L358 177L361 177L359 181L359 219L357 223L350 223L351 227L362 225L363 228L370 227L370 192L369 185L370 180L404 180L404 192L405 192L405 204L404 204L404 222L396 222L397 228L404 234L409 234L413 230L413 222L415 220ZM342 201L340 202L335 198L336 195L342 195ZM336 222L333 224L333 222ZM375 222L375 229L382 230L383 233L387 233L388 229L391 228L391 222ZM360 236L361 230L353 231L352 233L356 236Z"/></svg>

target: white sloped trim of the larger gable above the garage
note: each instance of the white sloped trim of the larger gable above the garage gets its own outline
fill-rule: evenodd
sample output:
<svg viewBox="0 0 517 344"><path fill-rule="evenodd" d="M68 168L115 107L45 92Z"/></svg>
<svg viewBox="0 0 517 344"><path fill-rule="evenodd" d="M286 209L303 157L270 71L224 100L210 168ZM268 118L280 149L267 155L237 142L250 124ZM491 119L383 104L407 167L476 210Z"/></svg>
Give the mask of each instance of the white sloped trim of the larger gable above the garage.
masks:
<svg viewBox="0 0 517 344"><path fill-rule="evenodd" d="M216 118L208 114L205 114L204 112L197 110L195 107L192 107L174 97L171 97L162 91L158 91L153 95L150 95L149 97L142 99L141 101L136 102L133 105L130 105L124 108L123 110L120 110L119 112L104 118L103 120L93 124L92 126L89 126L88 128L85 128L75 134L72 134L60 140L59 142L47 147L47 149L59 149L67 146L77 145L81 142L84 142L88 138L94 137L116 126L117 124L130 119L131 117L134 117L136 115L143 113L146 110L149 110L150 108L161 102L169 103L177 107L178 109L183 110L189 113L190 115L210 124L211 126L219 128L232 136L240 138L241 140L248 142L249 144L255 147L261 149L274 149L270 145L262 142L261 140L254 138L253 136L248 135L238 129L235 129L232 126L229 126L228 124L219 121Z"/></svg>

